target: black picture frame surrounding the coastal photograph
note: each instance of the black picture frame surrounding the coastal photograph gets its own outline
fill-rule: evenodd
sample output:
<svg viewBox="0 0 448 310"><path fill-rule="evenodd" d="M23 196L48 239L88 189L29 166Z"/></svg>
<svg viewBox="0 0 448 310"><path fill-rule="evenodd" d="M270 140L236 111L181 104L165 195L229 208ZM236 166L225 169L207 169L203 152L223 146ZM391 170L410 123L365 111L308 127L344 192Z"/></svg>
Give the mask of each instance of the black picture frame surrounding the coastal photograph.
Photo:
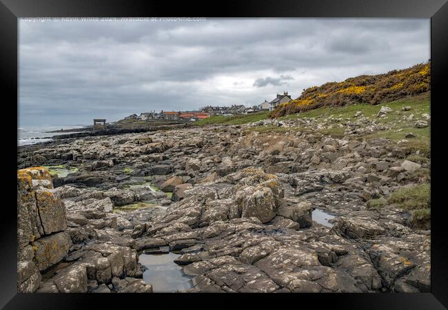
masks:
<svg viewBox="0 0 448 310"><path fill-rule="evenodd" d="M161 307L154 300L174 304L177 307L234 307L242 295L202 294L26 294L17 293L17 213L14 209L14 184L17 173L13 163L17 156L11 150L17 147L17 136L12 134L17 113L14 102L18 95L18 20L20 17L387 17L387 18L431 18L431 293L356 293L356 294L258 294L256 300L274 302L293 307L318 307L327 304L343 309L446 309L448 307L448 247L446 207L442 205L443 172L446 166L442 158L444 113L444 87L447 84L448 4L446 0L269 0L269 1L118 1L118 0L1 0L0 1L0 76L3 85L3 118L8 118L8 137L3 154L7 154L3 167L3 197L8 203L2 206L1 229L1 290L0 306L4 309L89 309L101 307L136 307L142 302L145 307ZM6 116L6 117L5 117ZM6 119L5 119L6 121ZM11 132L11 134L9 134ZM8 151L8 152L5 152ZM17 155L17 154L16 154ZM9 165L9 163L11 163ZM9 198L12 201L9 201ZM187 301L187 299L194 300ZM207 303L210 298L225 298L224 302ZM230 298L230 299L229 299ZM229 300L229 302L225 302ZM99 302L101 306L94 306ZM185 304L184 304L185 302ZM193 303L192 303L193 302ZM237 301L238 302L238 301ZM279 303L281 302L281 303ZM307 306L306 304L312 304Z"/></svg>

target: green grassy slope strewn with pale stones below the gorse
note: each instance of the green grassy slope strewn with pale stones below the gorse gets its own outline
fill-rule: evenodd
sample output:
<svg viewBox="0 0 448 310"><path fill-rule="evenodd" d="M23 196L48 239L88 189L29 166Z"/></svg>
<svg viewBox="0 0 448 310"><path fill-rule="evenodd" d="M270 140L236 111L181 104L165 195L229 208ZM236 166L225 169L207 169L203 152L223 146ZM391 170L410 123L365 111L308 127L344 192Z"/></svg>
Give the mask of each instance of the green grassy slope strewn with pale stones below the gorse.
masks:
<svg viewBox="0 0 448 310"><path fill-rule="evenodd" d="M378 118L376 114L380 111L381 107L390 107L393 111L387 114L385 118ZM410 106L411 110L403 111L402 108ZM329 122L331 125L329 127L315 130L315 132L332 136L334 138L342 138L344 132L347 129L347 121L355 121L357 118L354 117L355 113L361 111L363 116L369 118L369 120L377 121L378 123L384 123L391 127L391 130L383 130L374 132L372 134L360 135L360 138L365 138L369 141L374 138L386 138L395 143L399 147L405 149L405 154L416 155L422 158L429 158L431 155L431 145L430 145L430 132L431 128L415 128L414 123L416 119L421 119L421 114L430 114L430 96L429 93L420 94L407 99L400 99L396 101L391 101L388 103L381 103L379 105L370 104L355 104L355 105L345 105L342 107L320 107L315 110L309 110L307 112L302 112L298 114L289 114L278 118L279 121L282 120L292 120L297 118L316 118L316 120L324 120L332 118ZM256 114L238 115L238 116L212 116L210 118L197 121L196 125L240 125L244 123L251 123L254 121L260 121L267 118L269 112L261 112ZM414 119L411 121L403 120L403 116L409 116L414 114ZM329 121L329 120L328 120ZM300 127L276 127L276 126L259 126L251 127L247 129L247 132L288 132L288 131L302 131L307 132L305 129ZM415 138L405 138L405 135L409 132L416 134ZM400 141L400 143L398 143ZM422 158L418 158L419 163L424 163Z"/></svg>

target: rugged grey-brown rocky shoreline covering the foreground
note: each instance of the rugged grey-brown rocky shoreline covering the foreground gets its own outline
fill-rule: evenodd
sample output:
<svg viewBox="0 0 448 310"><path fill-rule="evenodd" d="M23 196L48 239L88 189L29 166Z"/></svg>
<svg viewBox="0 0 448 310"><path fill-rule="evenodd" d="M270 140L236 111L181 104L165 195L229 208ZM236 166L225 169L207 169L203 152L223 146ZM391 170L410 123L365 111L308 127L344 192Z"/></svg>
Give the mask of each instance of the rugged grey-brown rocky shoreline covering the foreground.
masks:
<svg viewBox="0 0 448 310"><path fill-rule="evenodd" d="M19 147L19 291L151 292L139 255L167 252L188 292L430 291L430 227L369 205L430 162L358 116L340 138L307 118Z"/></svg>

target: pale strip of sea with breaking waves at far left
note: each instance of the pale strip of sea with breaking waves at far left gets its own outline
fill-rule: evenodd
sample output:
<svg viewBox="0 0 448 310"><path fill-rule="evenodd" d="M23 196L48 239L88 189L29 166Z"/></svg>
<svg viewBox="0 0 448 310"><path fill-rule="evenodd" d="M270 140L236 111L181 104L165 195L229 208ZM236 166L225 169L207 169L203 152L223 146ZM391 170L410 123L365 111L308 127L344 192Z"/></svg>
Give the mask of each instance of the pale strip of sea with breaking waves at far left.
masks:
<svg viewBox="0 0 448 310"><path fill-rule="evenodd" d="M17 145L31 145L52 141L52 136L59 136L59 134L72 134L74 132L53 132L55 130L73 130L83 128L85 125L72 126L33 126L33 127L19 127L17 128Z"/></svg>

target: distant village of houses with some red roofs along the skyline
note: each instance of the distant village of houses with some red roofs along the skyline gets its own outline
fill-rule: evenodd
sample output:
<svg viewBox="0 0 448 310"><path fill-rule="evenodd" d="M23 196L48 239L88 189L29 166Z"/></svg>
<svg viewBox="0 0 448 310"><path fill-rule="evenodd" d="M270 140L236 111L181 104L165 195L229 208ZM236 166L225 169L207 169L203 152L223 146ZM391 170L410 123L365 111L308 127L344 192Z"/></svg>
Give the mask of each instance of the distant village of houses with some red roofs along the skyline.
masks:
<svg viewBox="0 0 448 310"><path fill-rule="evenodd" d="M231 105L231 106L211 106L207 105L202 107L201 110L193 111L152 111L143 112L140 115L131 114L126 116L125 120L134 121L198 121L203 118L209 118L210 116L232 116L237 114L250 114L258 112L267 112L274 110L278 105L292 101L291 95L287 92L283 94L276 94L276 97L272 101L264 101L258 105L252 107L246 107L245 105Z"/></svg>

